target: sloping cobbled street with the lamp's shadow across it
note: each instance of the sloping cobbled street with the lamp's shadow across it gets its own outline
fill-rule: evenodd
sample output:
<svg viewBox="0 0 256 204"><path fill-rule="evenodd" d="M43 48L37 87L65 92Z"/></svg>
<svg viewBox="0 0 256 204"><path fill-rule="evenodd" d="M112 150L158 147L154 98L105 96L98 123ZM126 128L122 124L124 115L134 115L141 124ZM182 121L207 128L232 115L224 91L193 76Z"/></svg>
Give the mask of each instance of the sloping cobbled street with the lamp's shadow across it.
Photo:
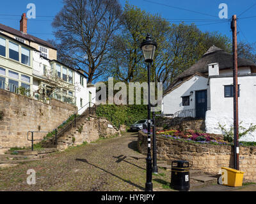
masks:
<svg viewBox="0 0 256 204"><path fill-rule="evenodd" d="M0 191L144 191L146 160L136 151L137 139L138 133L125 133L4 168ZM35 185L27 184L29 169L36 171ZM170 190L170 171L159 169L152 179L154 190Z"/></svg>

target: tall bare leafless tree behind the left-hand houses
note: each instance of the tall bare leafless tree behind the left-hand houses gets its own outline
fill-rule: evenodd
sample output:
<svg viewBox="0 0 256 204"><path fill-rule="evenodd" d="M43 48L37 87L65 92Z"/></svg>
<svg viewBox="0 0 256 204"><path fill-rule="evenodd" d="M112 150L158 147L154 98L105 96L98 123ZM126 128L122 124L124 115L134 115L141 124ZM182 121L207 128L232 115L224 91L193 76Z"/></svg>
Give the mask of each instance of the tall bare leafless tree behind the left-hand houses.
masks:
<svg viewBox="0 0 256 204"><path fill-rule="evenodd" d="M58 46L59 60L81 68L88 83L100 77L113 34L118 31L122 8L118 0L64 0L64 6L52 26Z"/></svg>

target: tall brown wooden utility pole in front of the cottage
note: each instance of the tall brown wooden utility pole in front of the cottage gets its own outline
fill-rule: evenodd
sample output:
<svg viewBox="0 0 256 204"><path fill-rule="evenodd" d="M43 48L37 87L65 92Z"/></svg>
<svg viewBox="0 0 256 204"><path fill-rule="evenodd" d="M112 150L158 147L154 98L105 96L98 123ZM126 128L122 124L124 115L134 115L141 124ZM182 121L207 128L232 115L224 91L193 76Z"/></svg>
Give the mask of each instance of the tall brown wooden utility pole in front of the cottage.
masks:
<svg viewBox="0 0 256 204"><path fill-rule="evenodd" d="M233 98L234 98L234 168L239 170L239 120L238 120L238 84L237 84L237 18L232 17L233 34Z"/></svg>

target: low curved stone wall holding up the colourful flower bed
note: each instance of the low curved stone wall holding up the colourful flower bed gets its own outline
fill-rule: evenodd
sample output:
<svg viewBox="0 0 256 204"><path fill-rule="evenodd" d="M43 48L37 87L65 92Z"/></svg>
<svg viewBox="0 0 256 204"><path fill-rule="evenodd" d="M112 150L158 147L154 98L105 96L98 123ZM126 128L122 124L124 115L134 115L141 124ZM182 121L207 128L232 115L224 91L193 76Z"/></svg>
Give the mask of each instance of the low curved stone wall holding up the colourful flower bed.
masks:
<svg viewBox="0 0 256 204"><path fill-rule="evenodd" d="M139 132L138 150L147 154L147 135ZM256 147L239 148L240 170L245 182L256 182ZM230 145L211 145L182 142L157 136L157 159L172 163L189 161L191 169L218 174L221 167L234 168L233 148Z"/></svg>

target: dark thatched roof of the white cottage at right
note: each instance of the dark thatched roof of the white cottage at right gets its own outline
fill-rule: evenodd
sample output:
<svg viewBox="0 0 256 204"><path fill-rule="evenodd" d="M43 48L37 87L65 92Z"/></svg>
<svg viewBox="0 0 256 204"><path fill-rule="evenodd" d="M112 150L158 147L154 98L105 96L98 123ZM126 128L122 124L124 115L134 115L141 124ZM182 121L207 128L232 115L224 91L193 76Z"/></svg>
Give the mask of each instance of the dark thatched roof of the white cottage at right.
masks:
<svg viewBox="0 0 256 204"><path fill-rule="evenodd" d="M256 64L254 64L252 61L249 61L248 59L238 58L237 62L238 67L250 66L256 68ZM219 63L220 70L231 69L233 67L233 55L213 45L211 48L209 48L209 50L207 50L207 52L205 52L202 58L198 60L198 62L196 62L196 64L181 73L179 77L175 78L175 80L173 80L173 83L170 84L164 94L166 94L166 92L170 92L170 90L173 88L173 85L175 85L179 80L183 78L194 75L195 73L203 73L207 75L208 64L212 63Z"/></svg>

